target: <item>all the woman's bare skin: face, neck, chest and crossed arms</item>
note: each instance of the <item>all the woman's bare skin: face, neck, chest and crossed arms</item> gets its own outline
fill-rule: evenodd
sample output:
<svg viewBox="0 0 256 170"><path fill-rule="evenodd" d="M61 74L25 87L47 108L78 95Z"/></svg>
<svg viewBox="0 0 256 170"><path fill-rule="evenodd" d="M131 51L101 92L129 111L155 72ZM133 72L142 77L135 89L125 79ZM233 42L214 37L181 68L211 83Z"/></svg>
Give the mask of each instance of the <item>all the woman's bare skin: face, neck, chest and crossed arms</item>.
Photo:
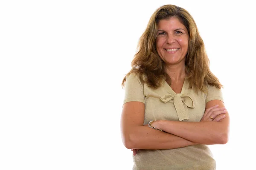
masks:
<svg viewBox="0 0 256 170"><path fill-rule="evenodd" d="M181 92L188 51L188 31L176 17L160 20L157 27L156 48L166 63L166 73L172 79L171 88ZM174 49L174 51L168 51ZM122 141L134 155L139 149L173 149L194 144L225 144L229 134L229 115L220 100L206 103L201 122L178 122L157 120L143 126L145 105L142 102L127 102L121 116ZM213 119L211 119L212 117Z"/></svg>

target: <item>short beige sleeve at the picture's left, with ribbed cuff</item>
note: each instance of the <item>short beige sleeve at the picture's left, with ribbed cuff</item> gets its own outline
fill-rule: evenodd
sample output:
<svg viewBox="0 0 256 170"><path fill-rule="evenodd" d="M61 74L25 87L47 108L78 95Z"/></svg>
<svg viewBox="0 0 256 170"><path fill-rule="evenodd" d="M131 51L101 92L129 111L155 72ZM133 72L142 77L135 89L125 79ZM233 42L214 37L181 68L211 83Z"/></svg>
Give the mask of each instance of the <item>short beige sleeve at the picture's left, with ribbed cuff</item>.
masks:
<svg viewBox="0 0 256 170"><path fill-rule="evenodd" d="M123 104L126 102L143 102L145 103L143 82L136 74L130 74L126 76L125 82L125 99Z"/></svg>

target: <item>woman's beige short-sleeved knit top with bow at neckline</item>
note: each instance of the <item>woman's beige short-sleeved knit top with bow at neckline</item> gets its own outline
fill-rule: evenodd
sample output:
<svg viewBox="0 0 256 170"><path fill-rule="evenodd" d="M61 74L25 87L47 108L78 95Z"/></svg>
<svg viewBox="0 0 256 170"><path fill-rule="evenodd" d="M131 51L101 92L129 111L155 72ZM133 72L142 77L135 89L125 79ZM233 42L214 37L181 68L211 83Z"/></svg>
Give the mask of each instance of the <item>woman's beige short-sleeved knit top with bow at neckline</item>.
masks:
<svg viewBox="0 0 256 170"><path fill-rule="evenodd" d="M206 102L223 101L221 89L208 86L208 93L196 93L189 88L186 78L180 94L176 94L166 81L156 90L149 88L139 77L126 77L126 102L145 104L144 125L151 120L200 122ZM209 147L197 144L168 150L140 150L134 159L134 170L215 170L216 164Z"/></svg>

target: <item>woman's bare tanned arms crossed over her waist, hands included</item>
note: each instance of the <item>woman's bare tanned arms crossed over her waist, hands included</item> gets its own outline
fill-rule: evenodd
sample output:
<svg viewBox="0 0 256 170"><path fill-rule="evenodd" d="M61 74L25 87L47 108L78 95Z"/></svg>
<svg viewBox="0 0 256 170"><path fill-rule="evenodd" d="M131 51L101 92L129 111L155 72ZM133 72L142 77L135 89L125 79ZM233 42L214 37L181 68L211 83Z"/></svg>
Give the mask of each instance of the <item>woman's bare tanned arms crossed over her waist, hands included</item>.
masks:
<svg viewBox="0 0 256 170"><path fill-rule="evenodd" d="M201 122L159 120L152 123L164 132L143 126L144 112L142 102L127 102L123 106L122 141L128 149L174 149L193 144L225 144L228 141L229 115L220 100L206 103Z"/></svg>

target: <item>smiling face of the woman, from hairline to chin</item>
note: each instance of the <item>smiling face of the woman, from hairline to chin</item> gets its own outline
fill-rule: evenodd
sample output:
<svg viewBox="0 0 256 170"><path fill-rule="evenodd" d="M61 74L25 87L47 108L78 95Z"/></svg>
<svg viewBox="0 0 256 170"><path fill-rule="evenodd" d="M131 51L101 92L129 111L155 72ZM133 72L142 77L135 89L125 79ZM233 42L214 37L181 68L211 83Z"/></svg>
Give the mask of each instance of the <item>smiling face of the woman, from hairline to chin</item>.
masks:
<svg viewBox="0 0 256 170"><path fill-rule="evenodd" d="M157 26L157 53L167 65L185 64L189 35L177 17L160 20Z"/></svg>

